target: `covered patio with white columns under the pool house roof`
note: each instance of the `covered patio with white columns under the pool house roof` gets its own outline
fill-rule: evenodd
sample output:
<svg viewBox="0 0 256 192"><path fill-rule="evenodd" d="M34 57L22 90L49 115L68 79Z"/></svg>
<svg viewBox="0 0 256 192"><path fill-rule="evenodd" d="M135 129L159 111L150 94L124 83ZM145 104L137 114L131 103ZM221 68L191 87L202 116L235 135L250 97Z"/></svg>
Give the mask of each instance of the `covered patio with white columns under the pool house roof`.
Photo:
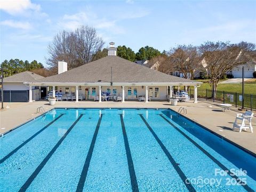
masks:
<svg viewBox="0 0 256 192"><path fill-rule="evenodd" d="M197 103L197 87L200 86L197 83L179 83L179 84L154 84L154 83L126 83L119 84L113 83L110 84L87 84L87 83L78 83L74 85L73 83L55 83L55 84L42 84L42 83L30 83L29 86L29 102L32 100L32 87L38 86L39 90L41 86L47 86L47 95L48 97L57 98L58 101L121 101L125 102L126 100L132 101L159 101L167 100L175 97L173 87L178 87L178 90L181 90L181 87L185 87L185 92L187 92L186 87L194 87L194 103ZM50 89L49 89L50 87ZM40 91L41 92L41 91ZM189 97L191 97L189 95ZM47 97L46 97L47 99Z"/></svg>

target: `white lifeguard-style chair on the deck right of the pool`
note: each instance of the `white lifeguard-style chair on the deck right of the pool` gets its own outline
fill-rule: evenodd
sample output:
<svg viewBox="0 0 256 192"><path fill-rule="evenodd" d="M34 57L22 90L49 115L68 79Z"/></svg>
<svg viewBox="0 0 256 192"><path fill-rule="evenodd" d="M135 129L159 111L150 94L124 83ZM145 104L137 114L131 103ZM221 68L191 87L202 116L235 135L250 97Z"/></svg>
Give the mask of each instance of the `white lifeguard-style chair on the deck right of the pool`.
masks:
<svg viewBox="0 0 256 192"><path fill-rule="evenodd" d="M244 114L236 114L236 120L235 123L233 124L233 129L238 128L239 132L241 132L242 129L250 129L251 132L253 133L252 117L253 113L251 111L246 111ZM238 120L242 121L241 124L237 124ZM245 125L245 122L248 122L249 125Z"/></svg>

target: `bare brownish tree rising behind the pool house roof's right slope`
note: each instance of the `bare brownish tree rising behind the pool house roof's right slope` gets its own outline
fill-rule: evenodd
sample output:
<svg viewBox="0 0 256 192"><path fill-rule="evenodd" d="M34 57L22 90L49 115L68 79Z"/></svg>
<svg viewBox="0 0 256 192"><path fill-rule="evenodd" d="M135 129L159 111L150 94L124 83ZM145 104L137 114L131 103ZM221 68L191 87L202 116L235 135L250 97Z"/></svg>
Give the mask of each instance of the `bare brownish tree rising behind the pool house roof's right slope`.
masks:
<svg viewBox="0 0 256 192"><path fill-rule="evenodd" d="M184 78L194 79L195 71L200 65L201 55L196 46L179 45L177 48L171 49L170 56L163 62L160 67L164 73L170 74L178 70Z"/></svg>

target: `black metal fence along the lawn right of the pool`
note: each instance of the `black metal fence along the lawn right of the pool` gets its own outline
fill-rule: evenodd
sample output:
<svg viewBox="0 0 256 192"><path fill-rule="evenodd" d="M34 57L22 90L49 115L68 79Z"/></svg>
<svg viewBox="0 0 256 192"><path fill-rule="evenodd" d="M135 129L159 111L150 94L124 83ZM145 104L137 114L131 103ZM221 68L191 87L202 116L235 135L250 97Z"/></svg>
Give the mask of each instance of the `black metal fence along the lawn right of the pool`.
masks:
<svg viewBox="0 0 256 192"><path fill-rule="evenodd" d="M198 90L197 94L199 98L205 98L206 100L219 101L223 103L230 103L235 107L242 107L243 95L237 92L228 91L214 91L215 98L213 98L212 90ZM192 92L193 95L193 92ZM244 108L250 110L256 110L256 95L244 94Z"/></svg>

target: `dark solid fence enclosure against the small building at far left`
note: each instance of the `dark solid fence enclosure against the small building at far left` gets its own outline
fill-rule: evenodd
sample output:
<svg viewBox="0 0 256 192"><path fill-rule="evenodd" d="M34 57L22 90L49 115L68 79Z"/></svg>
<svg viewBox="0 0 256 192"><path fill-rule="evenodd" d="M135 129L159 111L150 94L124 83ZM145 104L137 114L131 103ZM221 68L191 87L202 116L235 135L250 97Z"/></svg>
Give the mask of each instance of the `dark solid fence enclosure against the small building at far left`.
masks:
<svg viewBox="0 0 256 192"><path fill-rule="evenodd" d="M4 91L4 102L28 102L28 90ZM0 94L0 101L2 101Z"/></svg>

